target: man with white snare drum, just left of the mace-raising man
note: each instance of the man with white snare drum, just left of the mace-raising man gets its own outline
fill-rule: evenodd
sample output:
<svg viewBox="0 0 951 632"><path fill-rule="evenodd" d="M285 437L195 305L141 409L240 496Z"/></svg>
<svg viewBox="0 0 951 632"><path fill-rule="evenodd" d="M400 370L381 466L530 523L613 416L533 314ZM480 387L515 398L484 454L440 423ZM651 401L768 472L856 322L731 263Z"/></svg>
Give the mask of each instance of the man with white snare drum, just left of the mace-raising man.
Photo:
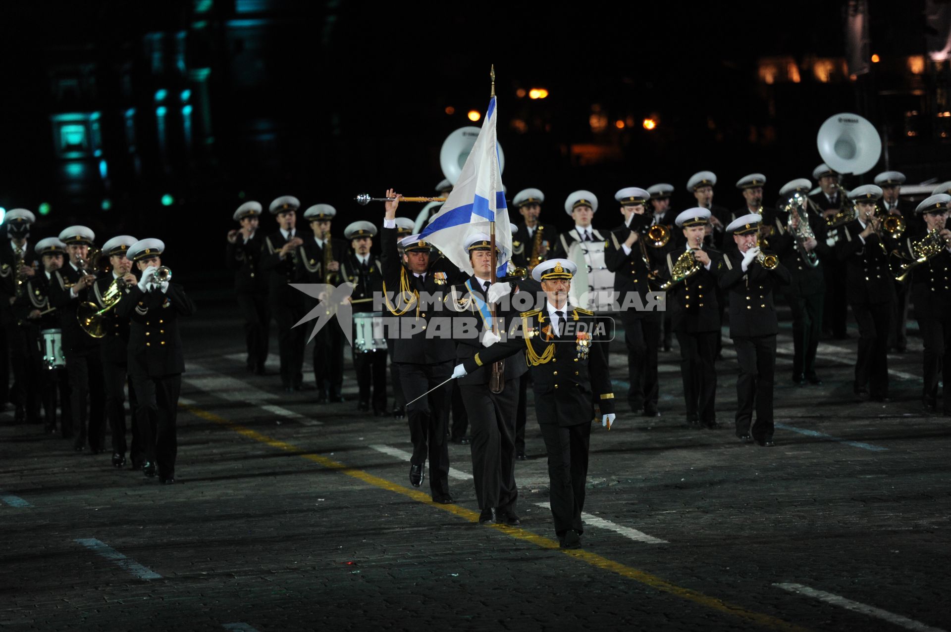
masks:
<svg viewBox="0 0 951 632"><path fill-rule="evenodd" d="M377 236L377 227L369 221L355 221L343 229L343 237L350 239L351 252L341 259L340 274L343 280L354 283L350 302L354 314L372 313L374 293L383 290L383 273L379 259L370 254L373 238ZM329 325L325 326L328 327ZM355 331L356 335L356 331ZM375 416L386 411L386 349L357 348L354 338L353 362L359 385L359 403L357 410L369 412L372 408ZM371 394L372 392L372 394Z"/></svg>

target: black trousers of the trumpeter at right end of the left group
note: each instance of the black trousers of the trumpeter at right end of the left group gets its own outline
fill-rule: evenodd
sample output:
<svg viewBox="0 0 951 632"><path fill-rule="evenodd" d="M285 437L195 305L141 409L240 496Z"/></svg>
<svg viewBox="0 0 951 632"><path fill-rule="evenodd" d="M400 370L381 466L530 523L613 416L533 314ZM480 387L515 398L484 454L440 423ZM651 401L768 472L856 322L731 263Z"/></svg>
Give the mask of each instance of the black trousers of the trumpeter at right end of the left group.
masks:
<svg viewBox="0 0 951 632"><path fill-rule="evenodd" d="M159 467L159 476L175 476L178 455L178 398L182 392L182 375L132 375L135 389L136 422L146 451L146 461Z"/></svg>

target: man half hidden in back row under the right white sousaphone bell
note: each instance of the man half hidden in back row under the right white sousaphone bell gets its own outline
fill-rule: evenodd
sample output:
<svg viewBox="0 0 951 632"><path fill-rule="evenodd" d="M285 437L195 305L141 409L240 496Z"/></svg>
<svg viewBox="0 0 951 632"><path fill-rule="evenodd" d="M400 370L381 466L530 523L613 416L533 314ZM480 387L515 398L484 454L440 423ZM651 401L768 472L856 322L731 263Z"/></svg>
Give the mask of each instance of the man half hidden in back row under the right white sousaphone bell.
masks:
<svg viewBox="0 0 951 632"><path fill-rule="evenodd" d="M809 196L809 200L823 214L824 220L831 220L840 210L844 209L849 201L845 200L840 192L839 174L825 163L812 170L812 178L819 182L819 192ZM827 242L835 244L838 230L830 230ZM848 316L848 301L845 291L845 268L842 261L829 259L825 261L825 302L823 305L823 330L837 340L848 337L845 321Z"/></svg>

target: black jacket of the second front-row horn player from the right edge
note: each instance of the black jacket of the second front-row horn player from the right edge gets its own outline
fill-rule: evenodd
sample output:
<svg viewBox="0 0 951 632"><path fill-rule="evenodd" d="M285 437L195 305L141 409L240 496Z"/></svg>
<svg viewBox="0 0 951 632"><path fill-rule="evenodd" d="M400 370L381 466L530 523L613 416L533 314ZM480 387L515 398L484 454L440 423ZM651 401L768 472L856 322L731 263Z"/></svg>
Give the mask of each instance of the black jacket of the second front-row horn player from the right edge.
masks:
<svg viewBox="0 0 951 632"><path fill-rule="evenodd" d="M882 241L875 233L859 238L863 231L859 220L852 220L839 228L835 244L836 256L845 262L845 294L852 305L873 305L895 300L894 277L888 269L888 256L900 243L885 234Z"/></svg>

